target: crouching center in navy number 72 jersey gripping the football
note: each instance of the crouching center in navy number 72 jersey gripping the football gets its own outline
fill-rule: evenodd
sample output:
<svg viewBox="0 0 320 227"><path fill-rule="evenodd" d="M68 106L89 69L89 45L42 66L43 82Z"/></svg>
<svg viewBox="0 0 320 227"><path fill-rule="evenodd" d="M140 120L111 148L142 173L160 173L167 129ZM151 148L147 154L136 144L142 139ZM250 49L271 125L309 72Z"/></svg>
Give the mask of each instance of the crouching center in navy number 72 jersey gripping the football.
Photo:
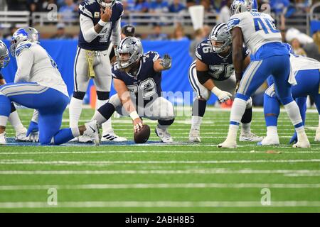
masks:
<svg viewBox="0 0 320 227"><path fill-rule="evenodd" d="M161 72L171 67L171 57L161 59L157 52L143 52L142 43L134 37L124 38L117 48L119 56L112 67L114 94L110 101L100 107L92 120L104 123L117 111L130 116L134 131L142 127L142 118L158 120L156 135L162 142L171 143L168 132L174 123L174 106L161 97Z"/></svg>

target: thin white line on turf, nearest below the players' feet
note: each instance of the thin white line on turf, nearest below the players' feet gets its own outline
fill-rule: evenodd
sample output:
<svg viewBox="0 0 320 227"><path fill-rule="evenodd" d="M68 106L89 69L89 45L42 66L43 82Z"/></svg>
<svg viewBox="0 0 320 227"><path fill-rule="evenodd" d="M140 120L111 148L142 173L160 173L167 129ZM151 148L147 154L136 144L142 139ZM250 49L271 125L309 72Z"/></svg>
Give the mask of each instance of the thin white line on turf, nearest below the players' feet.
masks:
<svg viewBox="0 0 320 227"><path fill-rule="evenodd" d="M316 149L319 150L319 149ZM251 154L249 150L247 151L230 151L230 150L225 150L225 151L199 151L199 150L186 150L186 151L181 151L181 150L92 150L92 151L38 151L38 152L0 152L0 155L51 155L51 154L61 154L61 155L66 155L66 154L112 154L112 153L132 153L132 154L139 154L139 153L147 153L147 154L152 154L152 153L168 153L168 154L193 154L193 153L203 153L203 154L230 154L230 153L235 153L235 154ZM255 151L255 153L266 153L265 151ZM254 153L254 154L255 154ZM292 154L292 153L320 153L320 151L287 151L286 153Z"/></svg>

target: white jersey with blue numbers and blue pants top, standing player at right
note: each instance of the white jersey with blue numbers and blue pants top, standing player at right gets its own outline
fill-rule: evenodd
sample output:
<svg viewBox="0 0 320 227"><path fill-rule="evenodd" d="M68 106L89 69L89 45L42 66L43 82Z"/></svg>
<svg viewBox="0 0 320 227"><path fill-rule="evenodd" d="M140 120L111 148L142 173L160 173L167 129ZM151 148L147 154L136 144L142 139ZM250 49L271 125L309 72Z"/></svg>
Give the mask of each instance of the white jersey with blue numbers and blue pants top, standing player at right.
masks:
<svg viewBox="0 0 320 227"><path fill-rule="evenodd" d="M257 11L237 13L228 21L228 30L241 28L251 60L261 60L274 55L289 55L282 44L281 33L274 26L274 19ZM270 44L270 45L266 45Z"/></svg>

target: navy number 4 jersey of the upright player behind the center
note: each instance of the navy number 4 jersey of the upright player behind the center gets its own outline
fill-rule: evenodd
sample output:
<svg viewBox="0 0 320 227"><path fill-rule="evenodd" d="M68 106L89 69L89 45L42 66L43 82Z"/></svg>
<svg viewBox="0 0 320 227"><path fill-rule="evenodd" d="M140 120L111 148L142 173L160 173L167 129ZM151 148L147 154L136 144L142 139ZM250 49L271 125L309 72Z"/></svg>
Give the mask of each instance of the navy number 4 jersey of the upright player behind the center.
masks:
<svg viewBox="0 0 320 227"><path fill-rule="evenodd" d="M100 21L100 4L96 0L85 0L80 3L79 14L90 18L95 26ZM102 31L99 33L97 38L92 40L92 42L87 43L80 28L79 33L79 48L85 50L107 50L110 43L110 36L116 22L121 18L123 14L122 3L116 1L116 4L112 6L112 16L110 21L102 28ZM80 21L81 23L81 21Z"/></svg>

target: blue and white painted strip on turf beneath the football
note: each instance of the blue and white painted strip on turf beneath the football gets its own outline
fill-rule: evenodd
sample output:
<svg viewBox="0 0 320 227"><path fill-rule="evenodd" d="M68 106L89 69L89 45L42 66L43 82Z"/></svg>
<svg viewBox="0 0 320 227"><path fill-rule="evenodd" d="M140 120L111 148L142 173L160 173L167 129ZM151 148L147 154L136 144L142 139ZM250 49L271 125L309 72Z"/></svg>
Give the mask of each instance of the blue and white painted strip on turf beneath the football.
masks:
<svg viewBox="0 0 320 227"><path fill-rule="evenodd" d="M6 138L6 146L41 146L40 143L30 143L30 142L19 142L16 141L14 138ZM172 145L183 145L183 144L188 144L188 143L170 143ZM127 145L137 145L137 146L149 146L149 145L168 145L166 143L161 143L160 141L147 141L146 143L134 143L134 141L129 140L126 142L102 142L100 145L122 145L122 146L127 146ZM55 145L52 145L55 146ZM94 147L94 145L92 143L77 143L77 142L69 142L69 143L65 143L63 145L59 145L59 146L69 146L69 147ZM56 146L58 147L58 146Z"/></svg>

